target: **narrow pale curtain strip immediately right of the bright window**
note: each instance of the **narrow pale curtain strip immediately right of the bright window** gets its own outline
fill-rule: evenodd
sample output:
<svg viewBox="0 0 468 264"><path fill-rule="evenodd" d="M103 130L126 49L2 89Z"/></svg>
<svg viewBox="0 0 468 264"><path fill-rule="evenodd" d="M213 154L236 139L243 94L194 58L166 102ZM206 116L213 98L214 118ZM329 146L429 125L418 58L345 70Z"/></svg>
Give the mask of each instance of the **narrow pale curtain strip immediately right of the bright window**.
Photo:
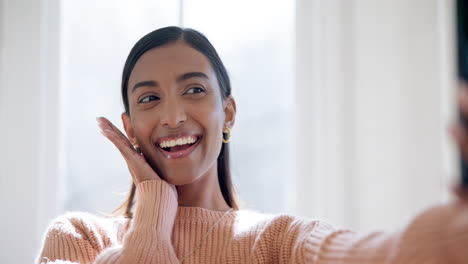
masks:
<svg viewBox="0 0 468 264"><path fill-rule="evenodd" d="M296 2L296 212L338 226L354 219L348 6Z"/></svg>

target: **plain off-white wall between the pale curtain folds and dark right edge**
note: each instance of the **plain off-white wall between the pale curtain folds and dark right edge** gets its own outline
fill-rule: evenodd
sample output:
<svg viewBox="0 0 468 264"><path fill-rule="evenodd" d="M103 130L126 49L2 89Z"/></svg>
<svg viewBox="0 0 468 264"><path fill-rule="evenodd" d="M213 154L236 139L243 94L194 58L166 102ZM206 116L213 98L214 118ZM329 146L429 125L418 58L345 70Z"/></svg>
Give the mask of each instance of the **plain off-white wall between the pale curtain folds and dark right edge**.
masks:
<svg viewBox="0 0 468 264"><path fill-rule="evenodd" d="M451 87L441 85L450 68L439 67L437 1L356 3L355 209L367 229L407 222L446 196L442 109Z"/></svg>

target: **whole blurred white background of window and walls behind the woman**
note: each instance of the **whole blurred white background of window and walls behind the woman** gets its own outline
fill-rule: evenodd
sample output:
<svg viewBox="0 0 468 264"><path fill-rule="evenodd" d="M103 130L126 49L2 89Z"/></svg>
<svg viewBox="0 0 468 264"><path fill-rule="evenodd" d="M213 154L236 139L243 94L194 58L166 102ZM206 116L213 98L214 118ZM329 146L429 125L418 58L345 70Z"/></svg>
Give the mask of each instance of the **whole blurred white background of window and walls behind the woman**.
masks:
<svg viewBox="0 0 468 264"><path fill-rule="evenodd" d="M131 183L95 117L123 130L133 44L204 33L232 78L244 208L397 230L450 199L458 154L454 4L445 0L0 0L0 262L32 263L66 211Z"/></svg>

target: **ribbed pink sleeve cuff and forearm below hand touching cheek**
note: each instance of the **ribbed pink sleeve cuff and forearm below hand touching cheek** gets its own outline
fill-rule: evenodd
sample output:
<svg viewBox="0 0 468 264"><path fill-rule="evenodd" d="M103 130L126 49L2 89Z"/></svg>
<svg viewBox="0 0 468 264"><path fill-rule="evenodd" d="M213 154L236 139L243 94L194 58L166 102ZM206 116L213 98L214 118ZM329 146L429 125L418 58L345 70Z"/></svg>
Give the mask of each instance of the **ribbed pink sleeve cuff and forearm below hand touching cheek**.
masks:
<svg viewBox="0 0 468 264"><path fill-rule="evenodd" d="M137 185L138 204L123 245L104 250L96 264L178 263L171 243L177 193L162 180Z"/></svg>

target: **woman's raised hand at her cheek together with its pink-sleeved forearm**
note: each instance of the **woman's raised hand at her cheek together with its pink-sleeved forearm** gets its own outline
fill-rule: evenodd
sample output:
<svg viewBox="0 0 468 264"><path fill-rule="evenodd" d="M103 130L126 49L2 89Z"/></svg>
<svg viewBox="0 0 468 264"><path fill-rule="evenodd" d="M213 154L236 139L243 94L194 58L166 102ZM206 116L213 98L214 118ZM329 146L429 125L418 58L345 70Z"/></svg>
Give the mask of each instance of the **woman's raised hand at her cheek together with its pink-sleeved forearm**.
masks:
<svg viewBox="0 0 468 264"><path fill-rule="evenodd" d="M122 114L124 124L128 118L127 113ZM127 162L137 186L138 204L123 245L106 249L95 263L178 263L171 243L178 203L175 186L163 181L146 162L143 152L136 151L109 120L100 117L97 121L101 133L119 149ZM132 141L137 144L136 138Z"/></svg>

